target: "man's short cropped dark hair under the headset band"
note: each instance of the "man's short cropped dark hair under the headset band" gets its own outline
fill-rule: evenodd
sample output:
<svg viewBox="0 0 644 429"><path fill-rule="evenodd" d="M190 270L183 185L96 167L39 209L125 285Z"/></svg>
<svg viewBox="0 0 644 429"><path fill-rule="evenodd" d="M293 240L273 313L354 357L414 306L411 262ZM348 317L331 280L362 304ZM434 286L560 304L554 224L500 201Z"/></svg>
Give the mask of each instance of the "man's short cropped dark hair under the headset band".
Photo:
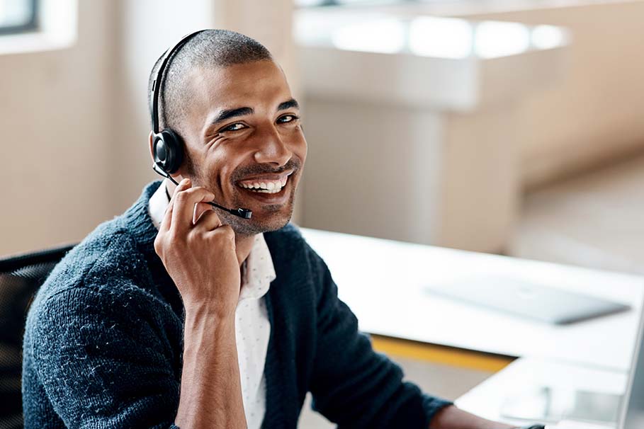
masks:
<svg viewBox="0 0 644 429"><path fill-rule="evenodd" d="M152 83L165 52L154 63L149 75L148 101L152 112ZM247 35L230 30L203 30L194 35L169 59L159 93L159 131L172 128L181 134L181 122L188 113L192 98L188 71L202 67L228 67L233 64L273 60L271 52ZM159 82L157 82L159 84ZM152 127L152 116L150 117Z"/></svg>

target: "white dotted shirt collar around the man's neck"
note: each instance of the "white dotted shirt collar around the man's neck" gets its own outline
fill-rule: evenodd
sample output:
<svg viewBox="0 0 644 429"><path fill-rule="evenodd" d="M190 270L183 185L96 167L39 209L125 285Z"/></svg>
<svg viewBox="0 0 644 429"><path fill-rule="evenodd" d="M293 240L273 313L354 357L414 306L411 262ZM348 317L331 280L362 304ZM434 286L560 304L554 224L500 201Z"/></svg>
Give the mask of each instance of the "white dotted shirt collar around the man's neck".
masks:
<svg viewBox="0 0 644 429"><path fill-rule="evenodd" d="M149 199L148 211L154 227L159 229L170 201L166 194L165 182L161 183L154 195ZM266 245L264 234L256 234L253 247L244 262L245 270L242 275L242 289L239 301L244 299L259 299L269 292L271 282L276 279L275 267L269 246Z"/></svg>

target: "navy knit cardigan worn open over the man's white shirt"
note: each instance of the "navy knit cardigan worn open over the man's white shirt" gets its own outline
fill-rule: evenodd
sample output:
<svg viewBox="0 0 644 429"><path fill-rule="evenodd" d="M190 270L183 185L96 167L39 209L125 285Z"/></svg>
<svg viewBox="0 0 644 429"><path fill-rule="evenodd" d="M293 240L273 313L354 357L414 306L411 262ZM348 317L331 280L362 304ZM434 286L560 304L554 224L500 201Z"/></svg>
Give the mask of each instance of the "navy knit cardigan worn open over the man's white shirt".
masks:
<svg viewBox="0 0 644 429"><path fill-rule="evenodd" d="M160 183L72 249L35 297L23 345L26 429L176 428L183 306L154 252L147 206ZM295 428L311 391L339 428L427 429L450 403L402 382L400 367L372 350L296 227L265 238L277 278L266 294L263 427Z"/></svg>

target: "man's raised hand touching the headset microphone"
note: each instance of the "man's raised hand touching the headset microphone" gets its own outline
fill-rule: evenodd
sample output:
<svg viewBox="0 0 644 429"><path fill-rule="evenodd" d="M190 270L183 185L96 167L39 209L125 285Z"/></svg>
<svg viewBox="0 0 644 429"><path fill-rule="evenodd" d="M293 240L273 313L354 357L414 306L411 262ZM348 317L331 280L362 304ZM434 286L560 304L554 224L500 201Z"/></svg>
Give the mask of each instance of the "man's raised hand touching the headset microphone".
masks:
<svg viewBox="0 0 644 429"><path fill-rule="evenodd" d="M190 179L183 179L154 240L154 250L179 289L186 316L207 311L234 317L239 299L235 232L205 204L214 198L209 190L193 188Z"/></svg>

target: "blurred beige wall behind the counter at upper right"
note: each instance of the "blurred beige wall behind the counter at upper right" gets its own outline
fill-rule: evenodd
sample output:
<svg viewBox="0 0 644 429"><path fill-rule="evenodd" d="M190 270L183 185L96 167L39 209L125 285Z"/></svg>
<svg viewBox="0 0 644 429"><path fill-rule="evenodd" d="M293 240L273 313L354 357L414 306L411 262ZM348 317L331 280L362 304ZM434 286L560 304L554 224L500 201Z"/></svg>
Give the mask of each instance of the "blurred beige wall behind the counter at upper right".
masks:
<svg viewBox="0 0 644 429"><path fill-rule="evenodd" d="M570 29L566 78L521 109L524 187L644 151L644 1L463 0L383 10Z"/></svg>

